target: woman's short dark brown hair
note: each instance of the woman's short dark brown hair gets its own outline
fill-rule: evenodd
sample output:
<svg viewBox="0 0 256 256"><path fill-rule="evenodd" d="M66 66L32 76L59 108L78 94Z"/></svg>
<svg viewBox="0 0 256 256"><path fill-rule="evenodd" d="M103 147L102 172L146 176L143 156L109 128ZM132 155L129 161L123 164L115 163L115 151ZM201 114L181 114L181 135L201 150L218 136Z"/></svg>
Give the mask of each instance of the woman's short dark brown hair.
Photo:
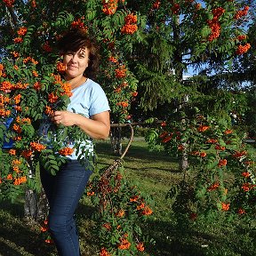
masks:
<svg viewBox="0 0 256 256"><path fill-rule="evenodd" d="M64 36L60 38L57 45L60 54L72 51L76 52L82 47L89 49L89 63L88 68L84 71L84 76L94 79L96 73L99 71L100 54L99 47L95 40L88 36L83 29L72 28Z"/></svg>

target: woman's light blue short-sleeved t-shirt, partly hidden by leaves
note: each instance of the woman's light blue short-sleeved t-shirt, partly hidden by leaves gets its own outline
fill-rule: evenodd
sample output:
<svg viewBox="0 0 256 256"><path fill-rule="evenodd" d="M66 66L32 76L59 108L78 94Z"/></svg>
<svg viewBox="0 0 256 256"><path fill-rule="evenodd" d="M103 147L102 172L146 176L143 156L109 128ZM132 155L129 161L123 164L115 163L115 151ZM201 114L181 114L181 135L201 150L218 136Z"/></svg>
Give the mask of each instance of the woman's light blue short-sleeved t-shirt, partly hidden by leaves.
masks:
<svg viewBox="0 0 256 256"><path fill-rule="evenodd" d="M70 103L67 110L76 114L81 114L90 118L93 115L100 114L104 111L109 111L108 99L105 92L100 87L100 84L95 83L91 79L87 79L86 82L72 90L72 96L70 97ZM40 125L39 133L43 135L44 143L47 143L51 147L51 141L49 140L49 132L52 133L52 140L54 140L54 132L51 132L52 122L47 118L44 119ZM48 138L48 139L46 139ZM77 141L68 141L68 147L73 148ZM84 147L89 152L93 151L92 140L79 141L80 148ZM67 147L67 145L65 146ZM79 150L81 151L81 150ZM77 156L76 156L77 155ZM72 155L67 156L69 159L76 160L80 155L76 153L76 149Z"/></svg>

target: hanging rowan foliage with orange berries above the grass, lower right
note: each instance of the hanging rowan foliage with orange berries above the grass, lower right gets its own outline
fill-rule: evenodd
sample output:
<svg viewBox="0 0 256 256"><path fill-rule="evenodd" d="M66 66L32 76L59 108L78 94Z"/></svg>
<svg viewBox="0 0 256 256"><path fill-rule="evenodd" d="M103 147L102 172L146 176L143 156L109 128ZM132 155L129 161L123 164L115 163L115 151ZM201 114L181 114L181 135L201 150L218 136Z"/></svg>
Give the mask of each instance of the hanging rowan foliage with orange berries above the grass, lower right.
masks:
<svg viewBox="0 0 256 256"><path fill-rule="evenodd" d="M188 157L183 180L168 193L180 223L203 217L213 221L224 214L229 220L237 214L252 220L255 156L248 151L244 137L236 134L226 119L202 116L196 109L193 116L184 113L182 120L164 122L148 135L149 144L160 143L172 156Z"/></svg>

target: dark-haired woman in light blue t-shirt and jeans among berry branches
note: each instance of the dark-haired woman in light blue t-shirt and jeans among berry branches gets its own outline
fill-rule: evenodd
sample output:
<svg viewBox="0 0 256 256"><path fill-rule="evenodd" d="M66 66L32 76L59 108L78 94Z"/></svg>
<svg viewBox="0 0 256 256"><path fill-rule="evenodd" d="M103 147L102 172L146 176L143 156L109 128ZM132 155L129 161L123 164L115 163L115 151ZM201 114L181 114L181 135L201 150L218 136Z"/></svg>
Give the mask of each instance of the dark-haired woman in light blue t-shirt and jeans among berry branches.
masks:
<svg viewBox="0 0 256 256"><path fill-rule="evenodd" d="M60 39L59 46L65 80L71 84L73 95L67 111L52 114L52 123L77 125L93 139L106 139L110 129L108 100L100 85L88 77L99 60L95 44L83 30L73 29ZM91 140L84 145L92 149ZM50 205L49 230L59 255L76 256L80 252L74 212L92 171L77 161L76 151L68 158L56 176L41 170L41 180Z"/></svg>

